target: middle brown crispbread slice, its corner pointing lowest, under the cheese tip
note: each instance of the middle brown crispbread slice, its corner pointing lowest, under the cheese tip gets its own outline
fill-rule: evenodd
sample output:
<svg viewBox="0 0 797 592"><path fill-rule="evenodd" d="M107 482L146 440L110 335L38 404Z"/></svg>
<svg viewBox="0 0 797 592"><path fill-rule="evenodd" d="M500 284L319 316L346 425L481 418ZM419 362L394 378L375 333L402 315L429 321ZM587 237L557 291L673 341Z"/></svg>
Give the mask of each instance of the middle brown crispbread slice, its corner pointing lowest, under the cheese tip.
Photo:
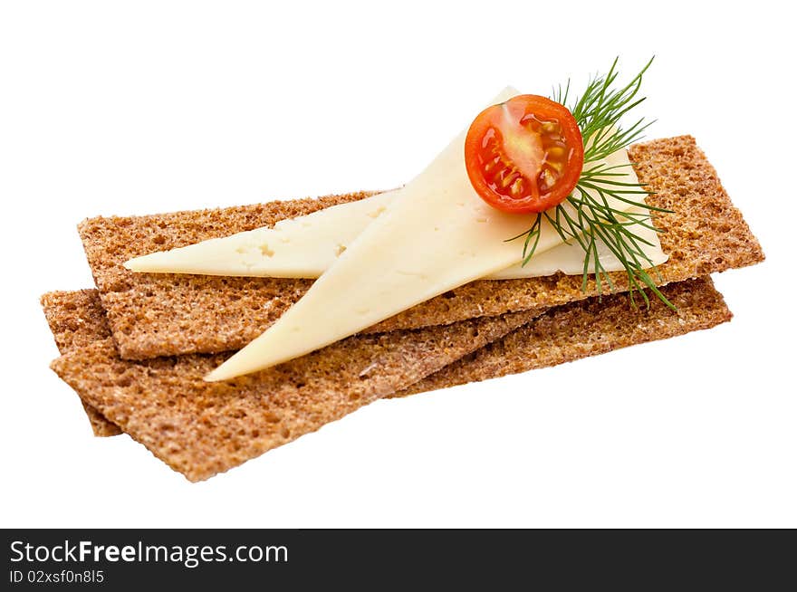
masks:
<svg viewBox="0 0 797 592"><path fill-rule="evenodd" d="M130 362L110 339L73 350L52 368L86 403L199 481L407 387L534 315L354 336L226 382L203 380L226 354Z"/></svg>

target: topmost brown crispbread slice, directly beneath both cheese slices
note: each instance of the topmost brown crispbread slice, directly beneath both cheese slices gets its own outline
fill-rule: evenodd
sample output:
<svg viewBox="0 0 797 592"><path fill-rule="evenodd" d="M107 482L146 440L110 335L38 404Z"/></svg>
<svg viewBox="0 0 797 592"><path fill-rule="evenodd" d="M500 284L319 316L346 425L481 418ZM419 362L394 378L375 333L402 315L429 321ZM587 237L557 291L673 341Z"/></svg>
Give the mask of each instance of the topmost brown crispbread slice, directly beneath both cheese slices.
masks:
<svg viewBox="0 0 797 592"><path fill-rule="evenodd" d="M742 215L731 204L714 167L689 136L658 139L629 150L639 180L655 195L650 205L675 210L654 215L666 231L660 283L743 267L763 253ZM302 296L306 280L133 274L127 259L206 238L272 225L328 205L370 194L328 196L223 210L143 217L92 218L80 224L82 242L123 358L239 349ZM520 248L520 247L518 247ZM618 290L626 286L612 275ZM353 287L352 289L356 289ZM446 324L506 311L550 308L597 293L581 291L581 277L555 275L530 280L472 282L406 310L373 331Z"/></svg>

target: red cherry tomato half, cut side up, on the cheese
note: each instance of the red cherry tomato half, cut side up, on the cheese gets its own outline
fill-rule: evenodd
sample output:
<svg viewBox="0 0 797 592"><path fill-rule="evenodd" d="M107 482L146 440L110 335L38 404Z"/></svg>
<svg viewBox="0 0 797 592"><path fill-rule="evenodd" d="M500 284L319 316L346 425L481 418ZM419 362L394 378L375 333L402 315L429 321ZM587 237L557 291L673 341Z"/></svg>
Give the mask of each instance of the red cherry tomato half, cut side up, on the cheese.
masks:
<svg viewBox="0 0 797 592"><path fill-rule="evenodd" d="M478 114L465 140L467 176L489 205L512 214L561 204L584 166L581 130L562 104L522 94Z"/></svg>

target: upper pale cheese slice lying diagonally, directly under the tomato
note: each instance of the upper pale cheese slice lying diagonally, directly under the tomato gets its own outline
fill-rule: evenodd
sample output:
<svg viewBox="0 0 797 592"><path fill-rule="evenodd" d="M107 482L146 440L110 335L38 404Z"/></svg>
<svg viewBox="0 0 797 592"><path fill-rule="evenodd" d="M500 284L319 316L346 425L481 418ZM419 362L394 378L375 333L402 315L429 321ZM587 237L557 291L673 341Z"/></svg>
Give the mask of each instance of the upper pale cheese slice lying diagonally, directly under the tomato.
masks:
<svg viewBox="0 0 797 592"><path fill-rule="evenodd" d="M514 91L507 90L495 102ZM302 299L257 339L211 372L225 380L269 368L357 333L401 310L517 263L535 215L487 205L466 174L466 131L414 178L350 243ZM629 204L610 199L618 211ZM565 205L565 207L571 207ZM562 244L543 221L537 253Z"/></svg>

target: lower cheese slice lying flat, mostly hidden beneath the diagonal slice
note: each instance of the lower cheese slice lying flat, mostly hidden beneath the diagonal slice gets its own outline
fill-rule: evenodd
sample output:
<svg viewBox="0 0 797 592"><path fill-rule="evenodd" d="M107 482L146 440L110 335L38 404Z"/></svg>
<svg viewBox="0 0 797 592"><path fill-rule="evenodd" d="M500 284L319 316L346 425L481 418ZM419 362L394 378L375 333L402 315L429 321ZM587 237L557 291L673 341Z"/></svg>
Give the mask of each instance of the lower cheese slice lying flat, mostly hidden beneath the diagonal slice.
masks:
<svg viewBox="0 0 797 592"><path fill-rule="evenodd" d="M607 164L618 167L613 172L626 183L638 183L625 150L607 158ZM197 273L245 277L310 278L319 277L379 215L387 211L398 196L389 191L348 204L333 205L310 215L282 220L274 228L232 234L190 244L178 249L150 253L130 259L125 263L133 272ZM632 207L638 216L646 210ZM649 218L643 218L649 224ZM634 233L644 242L639 243L643 253L654 264L667 261L661 251L658 233L643 225ZM505 238L510 238L509 236ZM606 243L597 242L600 264L607 272L625 269ZM520 258L522 247L515 242L515 252ZM576 242L562 243L546 253L536 253L525 265L515 263L485 279L507 280L552 275L562 272L581 275L584 268L584 251Z"/></svg>

